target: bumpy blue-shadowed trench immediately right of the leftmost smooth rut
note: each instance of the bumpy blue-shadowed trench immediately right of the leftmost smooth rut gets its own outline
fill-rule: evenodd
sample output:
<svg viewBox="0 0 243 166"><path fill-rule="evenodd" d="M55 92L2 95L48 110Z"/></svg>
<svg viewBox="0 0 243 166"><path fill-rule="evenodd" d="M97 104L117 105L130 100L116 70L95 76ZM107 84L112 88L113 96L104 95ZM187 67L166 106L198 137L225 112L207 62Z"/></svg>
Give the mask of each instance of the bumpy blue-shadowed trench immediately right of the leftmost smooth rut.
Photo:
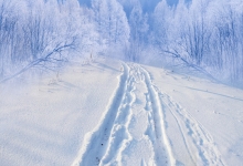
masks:
<svg viewBox="0 0 243 166"><path fill-rule="evenodd" d="M108 151L102 159L101 165L122 165L123 152L133 141L128 127L133 117L131 105L136 101L136 95L133 93L133 91L135 91L134 84L135 77L133 76L133 71L130 70L125 97L118 110L118 114L112 129L112 136L109 137Z"/></svg>

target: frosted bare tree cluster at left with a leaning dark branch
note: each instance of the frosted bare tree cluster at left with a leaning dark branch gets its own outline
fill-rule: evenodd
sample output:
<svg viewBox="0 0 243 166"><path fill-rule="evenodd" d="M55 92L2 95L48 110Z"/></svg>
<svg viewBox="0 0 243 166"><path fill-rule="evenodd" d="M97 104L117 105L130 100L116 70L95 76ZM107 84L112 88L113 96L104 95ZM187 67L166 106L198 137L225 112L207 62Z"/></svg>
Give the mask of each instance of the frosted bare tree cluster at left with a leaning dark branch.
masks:
<svg viewBox="0 0 243 166"><path fill-rule="evenodd" d="M56 68L93 44L92 30L76 0L0 0L0 80Z"/></svg>

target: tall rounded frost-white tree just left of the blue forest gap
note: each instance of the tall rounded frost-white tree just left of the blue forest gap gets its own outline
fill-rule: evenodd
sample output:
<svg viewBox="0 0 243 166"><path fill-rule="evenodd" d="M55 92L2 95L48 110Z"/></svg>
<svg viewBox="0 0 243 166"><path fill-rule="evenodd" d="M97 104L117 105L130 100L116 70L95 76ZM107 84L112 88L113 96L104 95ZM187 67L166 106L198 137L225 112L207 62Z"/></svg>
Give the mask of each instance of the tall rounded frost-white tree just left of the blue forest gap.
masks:
<svg viewBox="0 0 243 166"><path fill-rule="evenodd" d="M116 0L93 0L101 44L124 48L129 39L129 25L123 7Z"/></svg>

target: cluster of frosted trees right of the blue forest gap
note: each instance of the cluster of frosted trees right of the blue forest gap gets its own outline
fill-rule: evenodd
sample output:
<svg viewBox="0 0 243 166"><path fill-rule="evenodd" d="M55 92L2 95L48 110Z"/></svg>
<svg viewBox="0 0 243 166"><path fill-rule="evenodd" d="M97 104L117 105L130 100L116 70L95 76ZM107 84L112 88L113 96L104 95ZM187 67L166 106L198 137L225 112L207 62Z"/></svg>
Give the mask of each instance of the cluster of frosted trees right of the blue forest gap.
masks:
<svg viewBox="0 0 243 166"><path fill-rule="evenodd" d="M160 2L154 12L155 44L214 76L243 81L243 3L226 0Z"/></svg>

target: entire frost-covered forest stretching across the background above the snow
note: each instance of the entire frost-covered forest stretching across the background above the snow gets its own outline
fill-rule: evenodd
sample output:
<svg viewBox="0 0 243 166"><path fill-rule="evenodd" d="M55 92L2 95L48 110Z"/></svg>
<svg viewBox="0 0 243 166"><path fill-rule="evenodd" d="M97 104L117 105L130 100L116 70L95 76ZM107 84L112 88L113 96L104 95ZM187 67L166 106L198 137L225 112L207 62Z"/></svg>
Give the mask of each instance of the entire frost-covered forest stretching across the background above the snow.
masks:
<svg viewBox="0 0 243 166"><path fill-rule="evenodd" d="M190 66L243 83L242 0L0 0L0 81L80 56Z"/></svg>

